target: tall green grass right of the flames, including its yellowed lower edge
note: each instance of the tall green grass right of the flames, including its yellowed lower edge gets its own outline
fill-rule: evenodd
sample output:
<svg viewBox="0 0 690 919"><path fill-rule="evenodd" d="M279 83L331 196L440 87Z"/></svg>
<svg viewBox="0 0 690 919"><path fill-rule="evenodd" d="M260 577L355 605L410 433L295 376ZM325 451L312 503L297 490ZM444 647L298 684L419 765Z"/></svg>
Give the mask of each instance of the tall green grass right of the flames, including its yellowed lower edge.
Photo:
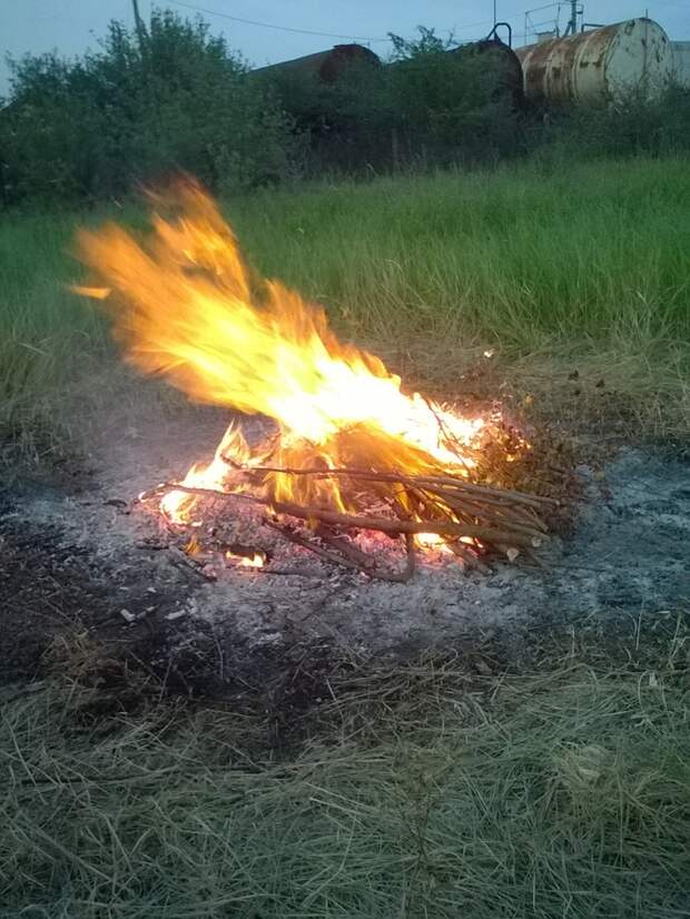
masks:
<svg viewBox="0 0 690 919"><path fill-rule="evenodd" d="M228 204L268 274L443 388L486 348L558 402L578 368L658 432L690 422L684 160L526 165Z"/></svg>

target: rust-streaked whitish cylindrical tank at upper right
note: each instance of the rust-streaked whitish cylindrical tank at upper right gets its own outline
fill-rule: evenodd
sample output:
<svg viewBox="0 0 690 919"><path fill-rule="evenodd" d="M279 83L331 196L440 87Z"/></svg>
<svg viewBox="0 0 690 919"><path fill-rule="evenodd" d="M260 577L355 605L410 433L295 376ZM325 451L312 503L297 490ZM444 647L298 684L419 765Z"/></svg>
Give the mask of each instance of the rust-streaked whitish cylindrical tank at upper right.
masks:
<svg viewBox="0 0 690 919"><path fill-rule="evenodd" d="M673 51L661 26L629 19L569 38L518 48L532 102L592 103L639 89L649 97L673 76Z"/></svg>

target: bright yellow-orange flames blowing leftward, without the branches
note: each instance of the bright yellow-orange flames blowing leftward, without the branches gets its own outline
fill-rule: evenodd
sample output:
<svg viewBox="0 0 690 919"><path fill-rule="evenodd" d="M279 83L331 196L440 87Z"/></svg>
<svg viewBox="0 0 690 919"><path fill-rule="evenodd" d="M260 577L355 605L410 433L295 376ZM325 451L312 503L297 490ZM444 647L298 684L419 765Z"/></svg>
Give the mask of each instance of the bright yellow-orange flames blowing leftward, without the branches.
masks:
<svg viewBox="0 0 690 919"><path fill-rule="evenodd" d="M195 401L262 414L278 426L277 436L249 446L230 425L213 461L194 466L183 484L258 488L269 502L355 512L357 490L348 491L346 478L283 470L469 475L482 418L404 394L378 357L336 338L321 307L255 276L194 182L152 197L158 213L144 241L115 225L80 233L82 259L100 283L83 293L110 293L115 335L140 370L165 375ZM394 482L371 491L404 518L421 520ZM197 501L170 492L161 507L170 521L190 522ZM452 516L447 507L444 514ZM417 542L444 541L421 534Z"/></svg>

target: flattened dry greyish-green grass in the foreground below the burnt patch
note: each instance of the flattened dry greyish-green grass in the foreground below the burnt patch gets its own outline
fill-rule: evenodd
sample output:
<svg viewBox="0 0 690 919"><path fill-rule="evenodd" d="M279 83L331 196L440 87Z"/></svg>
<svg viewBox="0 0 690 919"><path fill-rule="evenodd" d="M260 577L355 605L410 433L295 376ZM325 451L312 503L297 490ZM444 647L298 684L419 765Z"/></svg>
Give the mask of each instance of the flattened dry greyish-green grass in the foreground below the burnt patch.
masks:
<svg viewBox="0 0 690 919"><path fill-rule="evenodd" d="M334 671L279 755L246 692L95 718L83 684L6 691L0 916L687 916L688 623L617 641Z"/></svg>

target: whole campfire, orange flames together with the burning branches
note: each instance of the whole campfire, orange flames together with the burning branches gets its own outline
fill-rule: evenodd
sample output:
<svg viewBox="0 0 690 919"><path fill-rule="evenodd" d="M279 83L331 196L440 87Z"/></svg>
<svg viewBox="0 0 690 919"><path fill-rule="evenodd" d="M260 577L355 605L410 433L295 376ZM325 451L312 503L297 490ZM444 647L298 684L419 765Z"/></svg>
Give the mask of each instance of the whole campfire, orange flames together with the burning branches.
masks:
<svg viewBox="0 0 690 919"><path fill-rule="evenodd" d="M393 581L420 555L470 569L533 557L552 498L496 487L486 462L529 451L519 433L495 413L406 394L379 358L337 339L321 307L254 273L193 181L150 197L144 238L115 225L80 233L97 286L76 289L102 300L139 370L272 424L249 442L233 422L210 462L141 496L188 555L270 573L278 536ZM250 521L248 542L237 521Z"/></svg>

